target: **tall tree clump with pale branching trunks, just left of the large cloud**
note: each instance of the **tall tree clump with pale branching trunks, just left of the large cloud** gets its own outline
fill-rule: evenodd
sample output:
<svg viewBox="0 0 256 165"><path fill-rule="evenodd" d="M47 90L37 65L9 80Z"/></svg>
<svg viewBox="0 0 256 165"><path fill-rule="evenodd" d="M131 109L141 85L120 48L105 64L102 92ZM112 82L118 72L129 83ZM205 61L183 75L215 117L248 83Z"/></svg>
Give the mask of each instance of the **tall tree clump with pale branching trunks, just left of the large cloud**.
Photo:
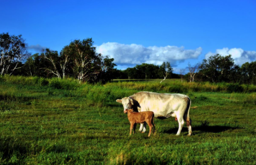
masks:
<svg viewBox="0 0 256 165"><path fill-rule="evenodd" d="M57 51L45 49L41 56L47 61L43 69L49 74L58 78L75 77L79 82L109 81L116 66L113 58L96 53L92 38L72 41L60 55Z"/></svg>

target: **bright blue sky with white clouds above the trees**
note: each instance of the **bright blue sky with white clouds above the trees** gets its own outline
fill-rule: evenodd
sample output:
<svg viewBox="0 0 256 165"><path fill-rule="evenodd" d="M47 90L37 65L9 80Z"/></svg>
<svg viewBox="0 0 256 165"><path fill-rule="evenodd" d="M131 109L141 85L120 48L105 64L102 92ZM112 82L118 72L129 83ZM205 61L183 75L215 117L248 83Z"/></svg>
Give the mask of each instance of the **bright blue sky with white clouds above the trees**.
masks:
<svg viewBox="0 0 256 165"><path fill-rule="evenodd" d="M0 9L0 33L22 34L33 53L93 38L119 69L169 61L178 72L216 53L256 60L255 0L0 0Z"/></svg>

